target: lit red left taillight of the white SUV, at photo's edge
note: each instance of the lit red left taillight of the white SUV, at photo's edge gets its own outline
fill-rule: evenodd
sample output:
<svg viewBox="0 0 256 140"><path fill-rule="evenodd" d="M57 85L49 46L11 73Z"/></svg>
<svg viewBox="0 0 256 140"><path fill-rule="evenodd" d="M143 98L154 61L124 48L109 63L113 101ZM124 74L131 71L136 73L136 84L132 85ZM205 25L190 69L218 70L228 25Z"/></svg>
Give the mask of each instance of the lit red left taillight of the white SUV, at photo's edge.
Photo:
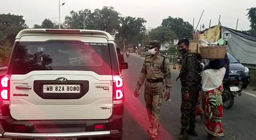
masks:
<svg viewBox="0 0 256 140"><path fill-rule="evenodd" d="M10 75L6 75L1 79L0 93L2 100L9 101L10 99Z"/></svg>

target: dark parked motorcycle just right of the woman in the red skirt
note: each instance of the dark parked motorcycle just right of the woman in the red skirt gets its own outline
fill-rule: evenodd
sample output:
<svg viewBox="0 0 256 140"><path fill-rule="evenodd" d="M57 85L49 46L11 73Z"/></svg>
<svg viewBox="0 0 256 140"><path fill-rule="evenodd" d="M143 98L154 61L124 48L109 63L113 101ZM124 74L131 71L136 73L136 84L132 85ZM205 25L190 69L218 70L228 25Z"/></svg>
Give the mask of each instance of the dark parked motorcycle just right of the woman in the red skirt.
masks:
<svg viewBox="0 0 256 140"><path fill-rule="evenodd" d="M223 107L230 109L234 105L234 97L242 95L243 82L241 76L234 76L223 81L222 101Z"/></svg>

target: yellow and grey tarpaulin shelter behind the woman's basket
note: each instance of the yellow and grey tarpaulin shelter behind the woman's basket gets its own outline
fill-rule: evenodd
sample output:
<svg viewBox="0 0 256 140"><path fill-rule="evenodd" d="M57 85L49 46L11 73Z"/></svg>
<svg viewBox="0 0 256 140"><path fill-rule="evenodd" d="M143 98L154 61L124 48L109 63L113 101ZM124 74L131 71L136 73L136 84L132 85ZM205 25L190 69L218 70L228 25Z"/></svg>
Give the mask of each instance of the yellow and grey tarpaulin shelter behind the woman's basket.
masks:
<svg viewBox="0 0 256 140"><path fill-rule="evenodd" d="M240 62L250 68L256 68L256 36L248 33L216 25L200 32L199 40L211 43L217 42L222 33L228 31L231 38L228 40L228 52L234 54Z"/></svg>

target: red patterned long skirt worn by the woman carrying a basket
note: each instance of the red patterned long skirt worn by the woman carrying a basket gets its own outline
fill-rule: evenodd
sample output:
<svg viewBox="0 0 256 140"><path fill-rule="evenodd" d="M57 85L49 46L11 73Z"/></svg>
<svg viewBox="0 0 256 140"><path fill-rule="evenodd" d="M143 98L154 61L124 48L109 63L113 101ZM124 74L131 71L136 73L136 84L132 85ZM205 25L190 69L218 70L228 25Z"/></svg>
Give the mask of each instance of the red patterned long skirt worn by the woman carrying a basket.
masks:
<svg viewBox="0 0 256 140"><path fill-rule="evenodd" d="M204 129L213 136L224 136L221 119L223 115L222 87L204 92Z"/></svg>

